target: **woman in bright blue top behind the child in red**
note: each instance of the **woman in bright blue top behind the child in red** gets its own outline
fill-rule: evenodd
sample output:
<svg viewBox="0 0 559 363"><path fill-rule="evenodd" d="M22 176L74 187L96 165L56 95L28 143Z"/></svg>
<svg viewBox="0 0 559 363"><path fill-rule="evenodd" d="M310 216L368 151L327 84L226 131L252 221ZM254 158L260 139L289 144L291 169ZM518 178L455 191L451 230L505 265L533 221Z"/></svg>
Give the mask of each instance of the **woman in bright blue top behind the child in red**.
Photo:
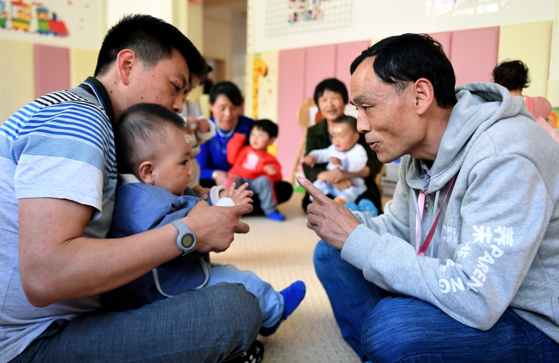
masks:
<svg viewBox="0 0 559 363"><path fill-rule="evenodd" d="M233 82L217 82L210 89L210 120L215 122L217 134L201 145L200 154L196 156L200 164L201 186L224 185L232 166L227 161L227 143L234 133L249 138L254 120L242 115L243 103L240 89ZM274 191L277 204L281 204L291 198L293 186L281 180L275 182ZM254 214L263 214L259 204L254 195Z"/></svg>

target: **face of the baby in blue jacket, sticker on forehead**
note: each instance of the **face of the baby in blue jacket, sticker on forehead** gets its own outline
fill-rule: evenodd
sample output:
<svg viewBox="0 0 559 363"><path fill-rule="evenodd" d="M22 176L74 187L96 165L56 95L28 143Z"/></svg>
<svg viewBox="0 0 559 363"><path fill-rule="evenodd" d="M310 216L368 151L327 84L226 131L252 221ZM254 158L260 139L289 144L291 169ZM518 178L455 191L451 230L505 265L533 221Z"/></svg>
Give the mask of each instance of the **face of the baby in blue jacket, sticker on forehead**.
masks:
<svg viewBox="0 0 559 363"><path fill-rule="evenodd" d="M186 128L168 126L164 145L154 165L154 185L175 195L184 195L192 180L194 168L190 163L192 146Z"/></svg>

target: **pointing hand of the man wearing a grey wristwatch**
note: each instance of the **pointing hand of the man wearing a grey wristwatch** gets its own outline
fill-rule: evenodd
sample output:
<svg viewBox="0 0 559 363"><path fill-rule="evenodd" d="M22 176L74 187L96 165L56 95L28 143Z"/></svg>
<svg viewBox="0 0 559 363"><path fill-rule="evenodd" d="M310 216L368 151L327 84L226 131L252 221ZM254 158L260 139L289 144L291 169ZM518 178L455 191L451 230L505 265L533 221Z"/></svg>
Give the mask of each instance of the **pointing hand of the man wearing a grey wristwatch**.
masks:
<svg viewBox="0 0 559 363"><path fill-rule="evenodd" d="M196 235L196 251L222 252L229 248L235 233L247 233L249 225L239 221L242 214L252 211L252 205L210 207L198 202L182 221Z"/></svg>

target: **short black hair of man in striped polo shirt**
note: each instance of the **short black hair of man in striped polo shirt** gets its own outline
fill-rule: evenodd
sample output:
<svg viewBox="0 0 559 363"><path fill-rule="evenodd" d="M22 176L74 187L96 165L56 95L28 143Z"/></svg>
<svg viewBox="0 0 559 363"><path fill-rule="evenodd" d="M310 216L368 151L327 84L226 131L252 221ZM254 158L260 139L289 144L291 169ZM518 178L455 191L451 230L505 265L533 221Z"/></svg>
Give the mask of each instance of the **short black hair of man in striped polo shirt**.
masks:
<svg viewBox="0 0 559 363"><path fill-rule="evenodd" d="M173 48L187 61L191 75L201 79L208 75L208 64L179 29L151 15L126 15L105 36L94 76L108 72L121 50L133 50L143 64L152 67L161 59L170 58Z"/></svg>

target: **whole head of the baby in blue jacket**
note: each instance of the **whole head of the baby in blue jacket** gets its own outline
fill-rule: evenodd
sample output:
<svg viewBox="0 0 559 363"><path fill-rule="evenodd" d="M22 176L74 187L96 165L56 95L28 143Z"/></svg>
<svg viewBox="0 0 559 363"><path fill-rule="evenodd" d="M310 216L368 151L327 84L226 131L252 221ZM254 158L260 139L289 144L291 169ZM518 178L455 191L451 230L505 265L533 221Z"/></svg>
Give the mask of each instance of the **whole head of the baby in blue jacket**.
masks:
<svg viewBox="0 0 559 363"><path fill-rule="evenodd" d="M191 145L182 117L161 105L124 110L115 131L118 170L183 195L192 179Z"/></svg>

